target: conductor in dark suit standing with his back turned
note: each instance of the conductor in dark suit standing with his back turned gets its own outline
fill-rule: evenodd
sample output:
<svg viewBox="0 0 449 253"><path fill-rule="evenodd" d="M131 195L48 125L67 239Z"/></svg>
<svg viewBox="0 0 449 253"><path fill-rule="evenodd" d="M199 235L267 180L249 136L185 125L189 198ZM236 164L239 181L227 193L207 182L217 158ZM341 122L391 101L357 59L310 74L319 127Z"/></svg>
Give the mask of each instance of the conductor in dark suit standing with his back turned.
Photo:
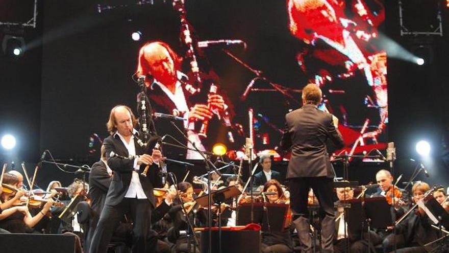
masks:
<svg viewBox="0 0 449 253"><path fill-rule="evenodd" d="M323 252L333 252L335 228L333 178L335 173L327 152L330 139L343 147L343 139L338 131L338 119L330 113L318 109L322 101L321 89L315 84L303 88L303 107L287 113L281 147L291 149L287 179L290 191L290 205L294 215L302 252L312 251L309 234L308 193L312 188L325 218L321 221L321 247Z"/></svg>

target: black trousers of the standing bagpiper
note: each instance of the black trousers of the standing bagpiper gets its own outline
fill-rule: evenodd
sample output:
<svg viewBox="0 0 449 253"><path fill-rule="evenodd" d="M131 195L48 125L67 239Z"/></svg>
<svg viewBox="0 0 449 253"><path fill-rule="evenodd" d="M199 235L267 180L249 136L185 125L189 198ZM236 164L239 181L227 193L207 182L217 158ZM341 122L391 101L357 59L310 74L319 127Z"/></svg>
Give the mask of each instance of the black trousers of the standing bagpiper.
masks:
<svg viewBox="0 0 449 253"><path fill-rule="evenodd" d="M118 205L105 204L93 234L90 253L106 253L119 221L129 214L133 221L133 252L146 252L152 205L148 199L123 198Z"/></svg>

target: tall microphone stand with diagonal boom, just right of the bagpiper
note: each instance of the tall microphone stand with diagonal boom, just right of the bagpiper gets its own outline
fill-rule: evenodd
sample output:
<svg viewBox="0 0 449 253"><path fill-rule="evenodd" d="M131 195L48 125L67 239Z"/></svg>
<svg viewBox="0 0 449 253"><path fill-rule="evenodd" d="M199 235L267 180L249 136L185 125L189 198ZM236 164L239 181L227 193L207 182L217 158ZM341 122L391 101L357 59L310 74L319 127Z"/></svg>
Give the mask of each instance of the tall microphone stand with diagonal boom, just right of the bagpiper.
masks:
<svg viewBox="0 0 449 253"><path fill-rule="evenodd" d="M196 152L198 152L198 154L200 154L203 157L203 159L205 160L205 163L206 163L207 171L211 172L213 170L219 176L222 176L221 172L219 172L217 170L217 167L215 167L215 165L211 162L211 160L207 158L207 156L205 155L205 152L199 150L196 147L195 143L190 141L189 138L186 136L186 134L181 129L179 129L179 127L173 121L170 121L170 123L171 123L171 125L174 126L174 128L176 128L184 136L184 138L187 140L187 142L192 145L194 150ZM183 148L190 149L188 147L183 147ZM207 193L208 194L208 211L207 211L208 221L207 221L207 223L208 223L208 227L209 227L209 245L208 245L209 251L208 252L212 253L212 211L211 211L211 206L212 206L211 180L212 180L212 178L211 178L211 173L208 173L207 179L208 179L207 183L208 183L208 189L209 189L209 191ZM221 238L219 238L219 240L221 240Z"/></svg>

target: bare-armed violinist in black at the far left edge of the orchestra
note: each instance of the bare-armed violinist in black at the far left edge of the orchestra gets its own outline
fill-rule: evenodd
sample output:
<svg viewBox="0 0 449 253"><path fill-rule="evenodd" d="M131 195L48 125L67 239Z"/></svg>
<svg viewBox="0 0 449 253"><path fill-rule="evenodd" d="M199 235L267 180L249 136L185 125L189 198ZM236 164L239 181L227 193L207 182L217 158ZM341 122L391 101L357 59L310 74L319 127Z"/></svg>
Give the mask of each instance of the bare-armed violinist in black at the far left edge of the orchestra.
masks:
<svg viewBox="0 0 449 253"><path fill-rule="evenodd" d="M17 188L19 179L13 174L5 173L3 183ZM5 192L2 192L0 195L2 202L7 202L11 199L15 199L16 202L16 206L4 209L2 214L0 214L0 227L11 233L26 233L26 226L34 227L45 216L54 202L52 199L48 199L43 209L35 216L32 216L28 207L21 205L20 198L16 198L15 195L15 193Z"/></svg>

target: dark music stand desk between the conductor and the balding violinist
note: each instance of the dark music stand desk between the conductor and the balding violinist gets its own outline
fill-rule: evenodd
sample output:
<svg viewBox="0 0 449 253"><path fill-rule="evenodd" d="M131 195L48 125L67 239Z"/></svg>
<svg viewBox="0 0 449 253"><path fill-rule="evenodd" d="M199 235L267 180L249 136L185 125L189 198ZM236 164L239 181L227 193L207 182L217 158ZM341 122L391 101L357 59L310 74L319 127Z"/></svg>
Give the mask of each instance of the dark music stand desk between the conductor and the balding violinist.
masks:
<svg viewBox="0 0 449 253"><path fill-rule="evenodd" d="M369 225L375 228L387 228L393 224L391 205L384 197L365 198L365 214Z"/></svg>

